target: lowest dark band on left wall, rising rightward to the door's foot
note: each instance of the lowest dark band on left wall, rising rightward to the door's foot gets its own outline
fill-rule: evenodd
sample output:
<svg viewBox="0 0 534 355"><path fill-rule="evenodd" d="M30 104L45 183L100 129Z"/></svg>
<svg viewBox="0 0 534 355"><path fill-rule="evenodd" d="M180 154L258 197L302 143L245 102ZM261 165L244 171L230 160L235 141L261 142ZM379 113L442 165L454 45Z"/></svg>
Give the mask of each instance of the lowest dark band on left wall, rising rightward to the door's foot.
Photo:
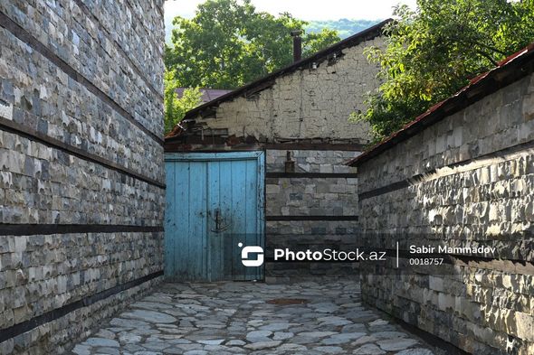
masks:
<svg viewBox="0 0 534 355"><path fill-rule="evenodd" d="M95 304L112 295L119 294L122 291L126 291L129 288L144 284L162 275L163 275L163 271L157 271L148 276L139 277L136 280L127 282L126 284L116 285L114 287L111 287L110 289L101 291L98 294L91 294L90 296L87 296L81 299L80 301L75 301L72 304L65 304L60 308L57 308L50 312L33 317L32 319L28 321L21 322L9 328L0 330L0 342L7 341L8 339L14 338L15 336L20 335L24 332L29 332L33 330L34 328L37 328L38 326L43 325L44 323L55 321L68 313L79 310L83 307L87 307L91 304Z"/></svg>

